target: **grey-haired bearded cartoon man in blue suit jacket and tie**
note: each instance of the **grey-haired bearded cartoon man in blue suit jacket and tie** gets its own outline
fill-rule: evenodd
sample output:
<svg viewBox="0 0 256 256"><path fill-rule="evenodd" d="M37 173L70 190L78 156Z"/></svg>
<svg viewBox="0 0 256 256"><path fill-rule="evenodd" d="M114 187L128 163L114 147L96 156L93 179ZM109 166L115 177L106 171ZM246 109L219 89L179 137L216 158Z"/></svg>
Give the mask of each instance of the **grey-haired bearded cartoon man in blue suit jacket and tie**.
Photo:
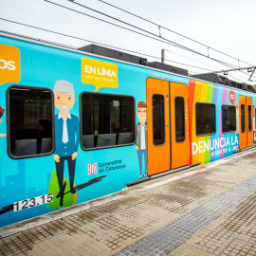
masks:
<svg viewBox="0 0 256 256"><path fill-rule="evenodd" d="M75 103L75 92L71 82L57 81L54 86L54 103L60 110L55 116L55 144L54 160L60 192L57 198L64 195L64 161L67 161L70 192L75 193L74 177L76 169L76 157L79 147L80 126L79 118L69 111Z"/></svg>

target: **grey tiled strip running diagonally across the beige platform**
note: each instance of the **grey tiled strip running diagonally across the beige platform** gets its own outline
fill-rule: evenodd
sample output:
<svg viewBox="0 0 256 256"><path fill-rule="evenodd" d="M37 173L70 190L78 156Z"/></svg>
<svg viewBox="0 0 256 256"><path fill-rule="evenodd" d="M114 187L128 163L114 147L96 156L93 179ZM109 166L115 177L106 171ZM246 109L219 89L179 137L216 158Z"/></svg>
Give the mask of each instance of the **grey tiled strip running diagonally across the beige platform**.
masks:
<svg viewBox="0 0 256 256"><path fill-rule="evenodd" d="M132 246L124 248L116 255L166 255L253 192L255 187L256 175L253 175L164 228L158 229Z"/></svg>

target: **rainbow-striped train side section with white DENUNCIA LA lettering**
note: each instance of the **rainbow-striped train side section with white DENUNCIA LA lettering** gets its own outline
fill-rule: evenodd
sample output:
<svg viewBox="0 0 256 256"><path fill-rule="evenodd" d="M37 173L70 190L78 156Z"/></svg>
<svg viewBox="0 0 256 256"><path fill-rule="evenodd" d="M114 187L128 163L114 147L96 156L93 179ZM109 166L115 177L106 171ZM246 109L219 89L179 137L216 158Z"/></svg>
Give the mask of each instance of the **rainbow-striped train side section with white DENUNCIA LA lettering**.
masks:
<svg viewBox="0 0 256 256"><path fill-rule="evenodd" d="M222 132L222 105L229 104L229 88L208 82L189 82L189 116L190 116L190 164L211 161L229 156L238 146L235 133ZM216 133L210 136L197 137L195 123L195 103L215 104Z"/></svg>

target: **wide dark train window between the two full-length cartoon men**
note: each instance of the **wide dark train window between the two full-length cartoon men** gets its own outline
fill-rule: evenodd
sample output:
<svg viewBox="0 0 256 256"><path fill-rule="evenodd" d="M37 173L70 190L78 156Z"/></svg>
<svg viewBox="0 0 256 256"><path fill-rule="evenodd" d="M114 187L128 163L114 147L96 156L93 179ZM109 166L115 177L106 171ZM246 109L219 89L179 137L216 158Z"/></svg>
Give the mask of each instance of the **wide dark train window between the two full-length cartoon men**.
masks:
<svg viewBox="0 0 256 256"><path fill-rule="evenodd" d="M82 93L83 150L135 142L135 100L131 96Z"/></svg>

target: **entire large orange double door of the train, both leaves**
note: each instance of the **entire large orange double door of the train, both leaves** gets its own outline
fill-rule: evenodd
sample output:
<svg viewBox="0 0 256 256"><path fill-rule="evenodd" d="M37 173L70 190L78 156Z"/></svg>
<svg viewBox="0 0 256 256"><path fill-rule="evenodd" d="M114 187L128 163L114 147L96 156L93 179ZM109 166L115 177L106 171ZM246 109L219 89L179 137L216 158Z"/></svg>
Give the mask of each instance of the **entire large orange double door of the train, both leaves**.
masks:
<svg viewBox="0 0 256 256"><path fill-rule="evenodd" d="M148 175L188 165L188 87L148 79L147 112Z"/></svg>

